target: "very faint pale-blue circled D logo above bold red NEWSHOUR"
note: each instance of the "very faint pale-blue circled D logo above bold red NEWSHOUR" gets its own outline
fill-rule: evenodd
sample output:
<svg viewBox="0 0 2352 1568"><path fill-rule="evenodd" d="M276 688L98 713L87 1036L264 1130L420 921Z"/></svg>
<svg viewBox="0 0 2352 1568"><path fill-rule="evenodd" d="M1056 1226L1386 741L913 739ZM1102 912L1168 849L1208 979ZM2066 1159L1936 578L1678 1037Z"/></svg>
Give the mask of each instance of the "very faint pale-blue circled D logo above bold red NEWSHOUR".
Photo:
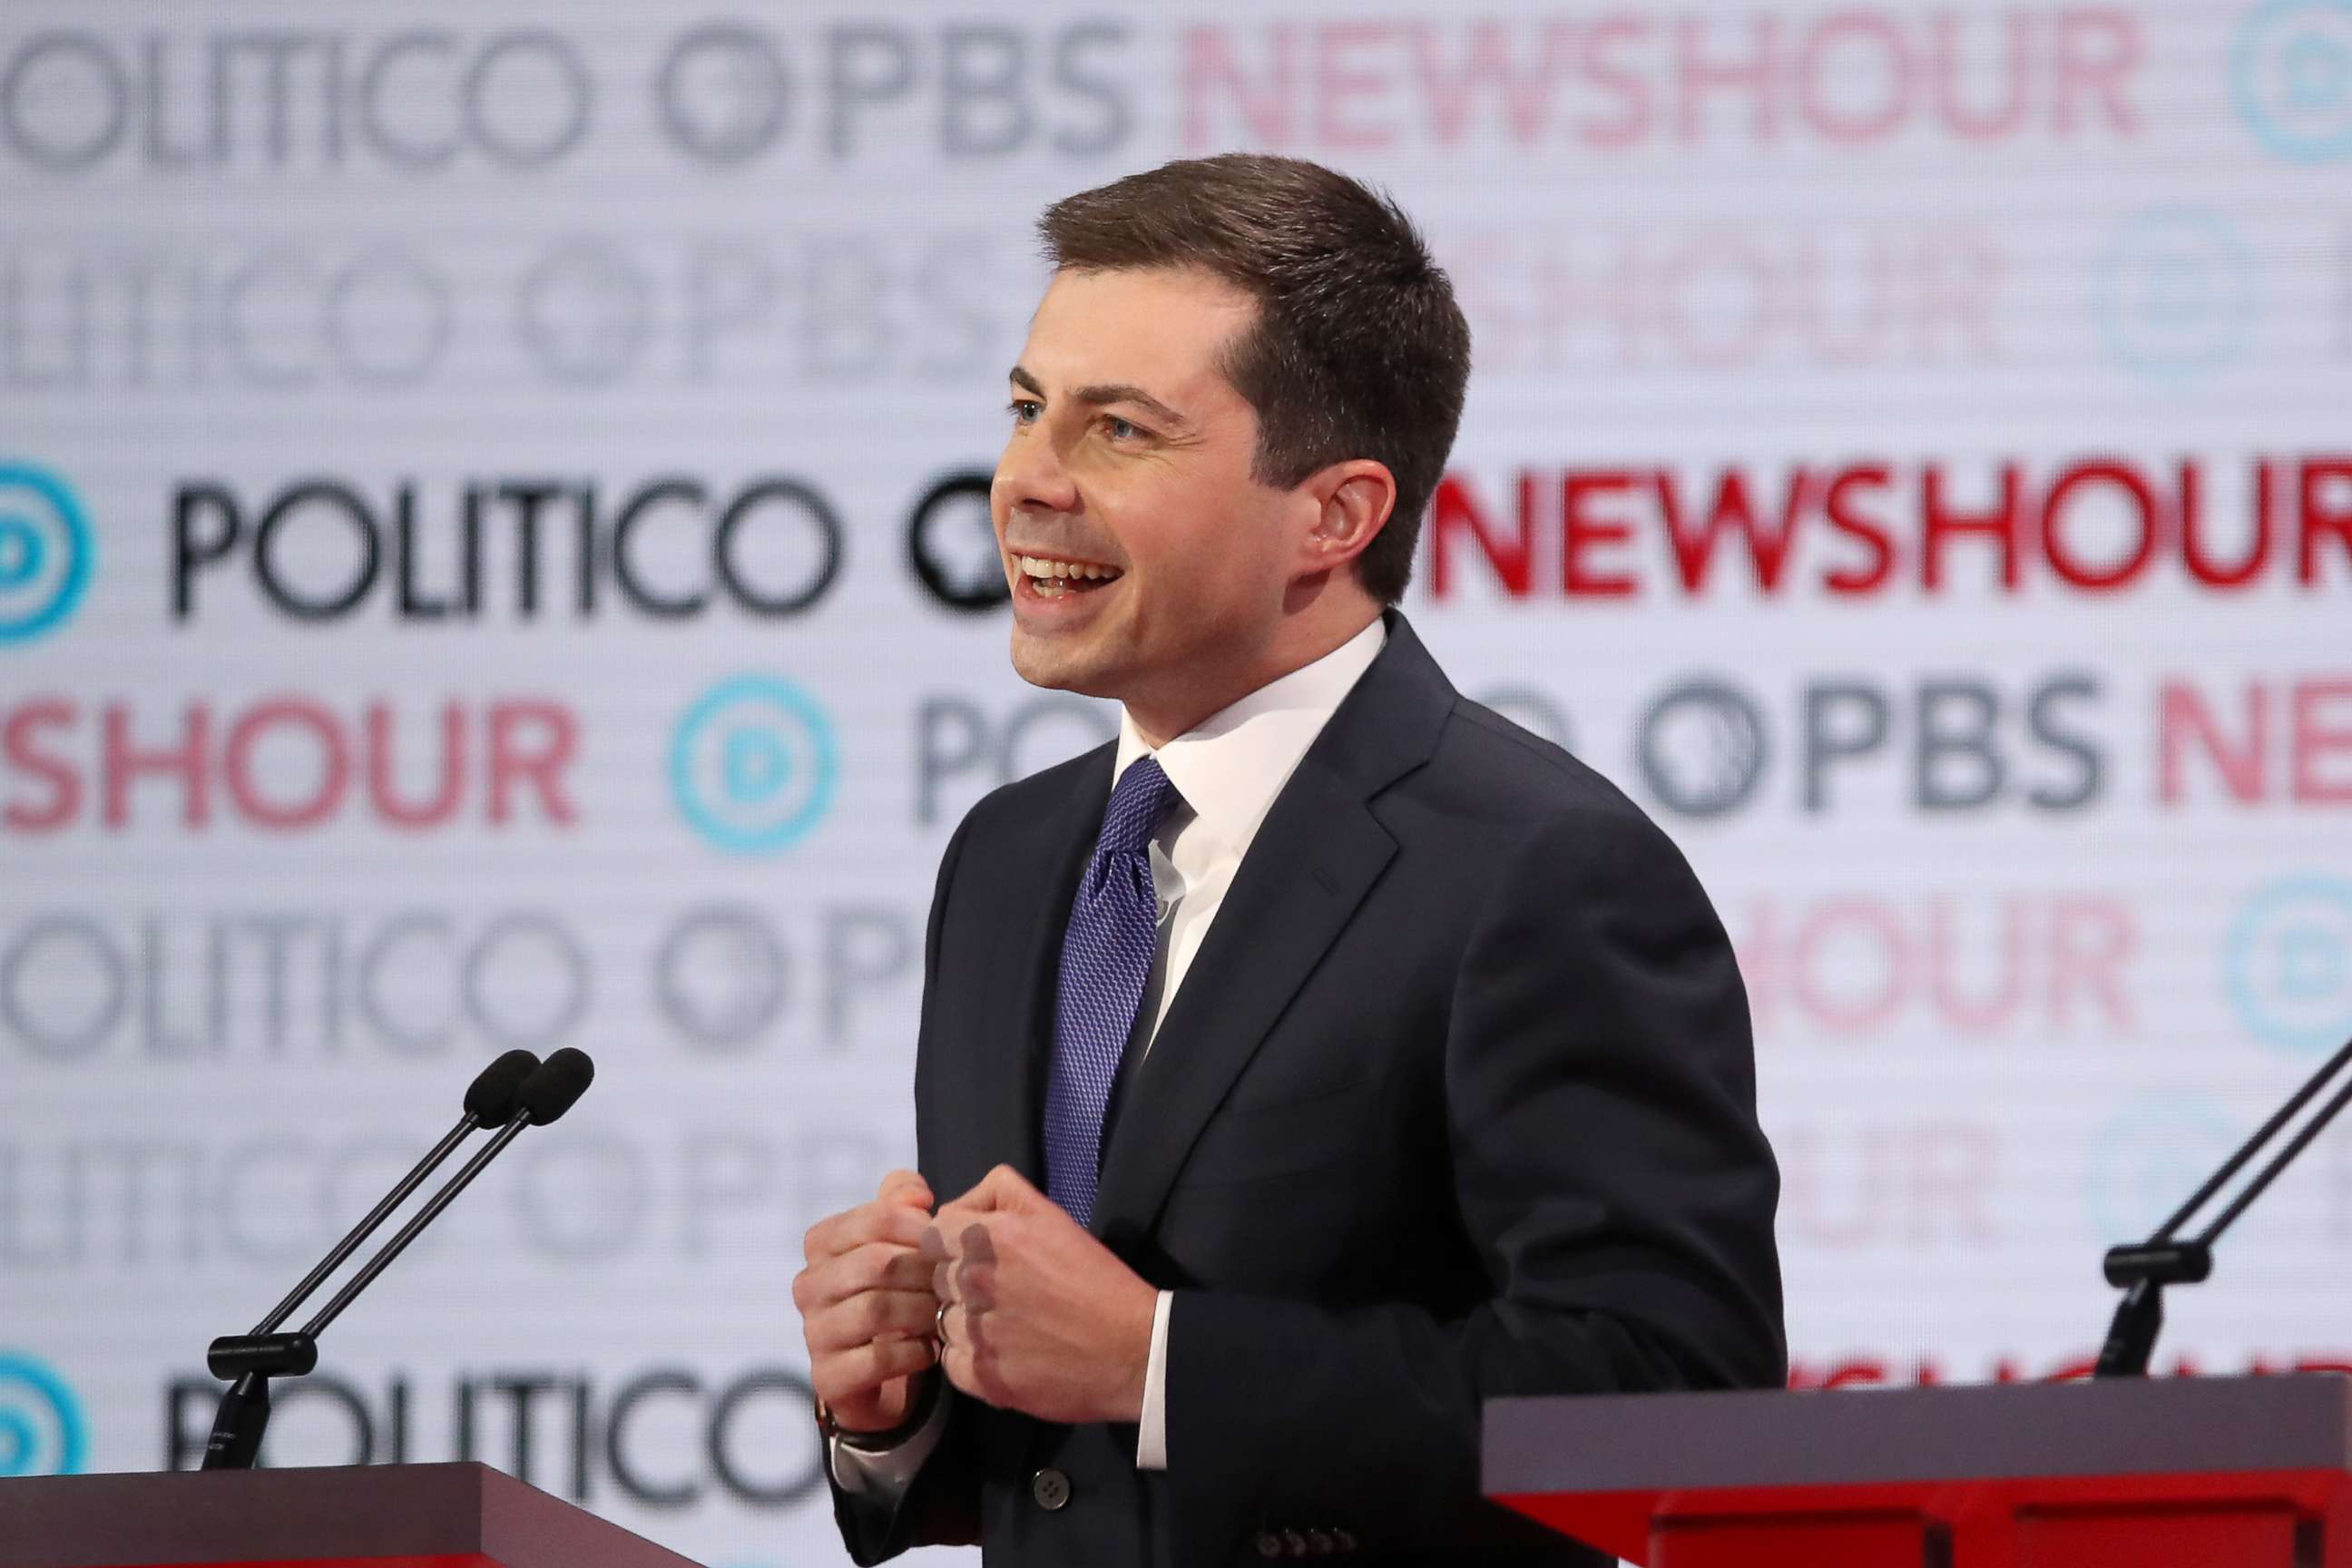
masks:
<svg viewBox="0 0 2352 1568"><path fill-rule="evenodd" d="M2098 277L2107 353L2145 376L2209 371L2253 331L2253 256L2209 212L2138 214L2107 240Z"/></svg>

